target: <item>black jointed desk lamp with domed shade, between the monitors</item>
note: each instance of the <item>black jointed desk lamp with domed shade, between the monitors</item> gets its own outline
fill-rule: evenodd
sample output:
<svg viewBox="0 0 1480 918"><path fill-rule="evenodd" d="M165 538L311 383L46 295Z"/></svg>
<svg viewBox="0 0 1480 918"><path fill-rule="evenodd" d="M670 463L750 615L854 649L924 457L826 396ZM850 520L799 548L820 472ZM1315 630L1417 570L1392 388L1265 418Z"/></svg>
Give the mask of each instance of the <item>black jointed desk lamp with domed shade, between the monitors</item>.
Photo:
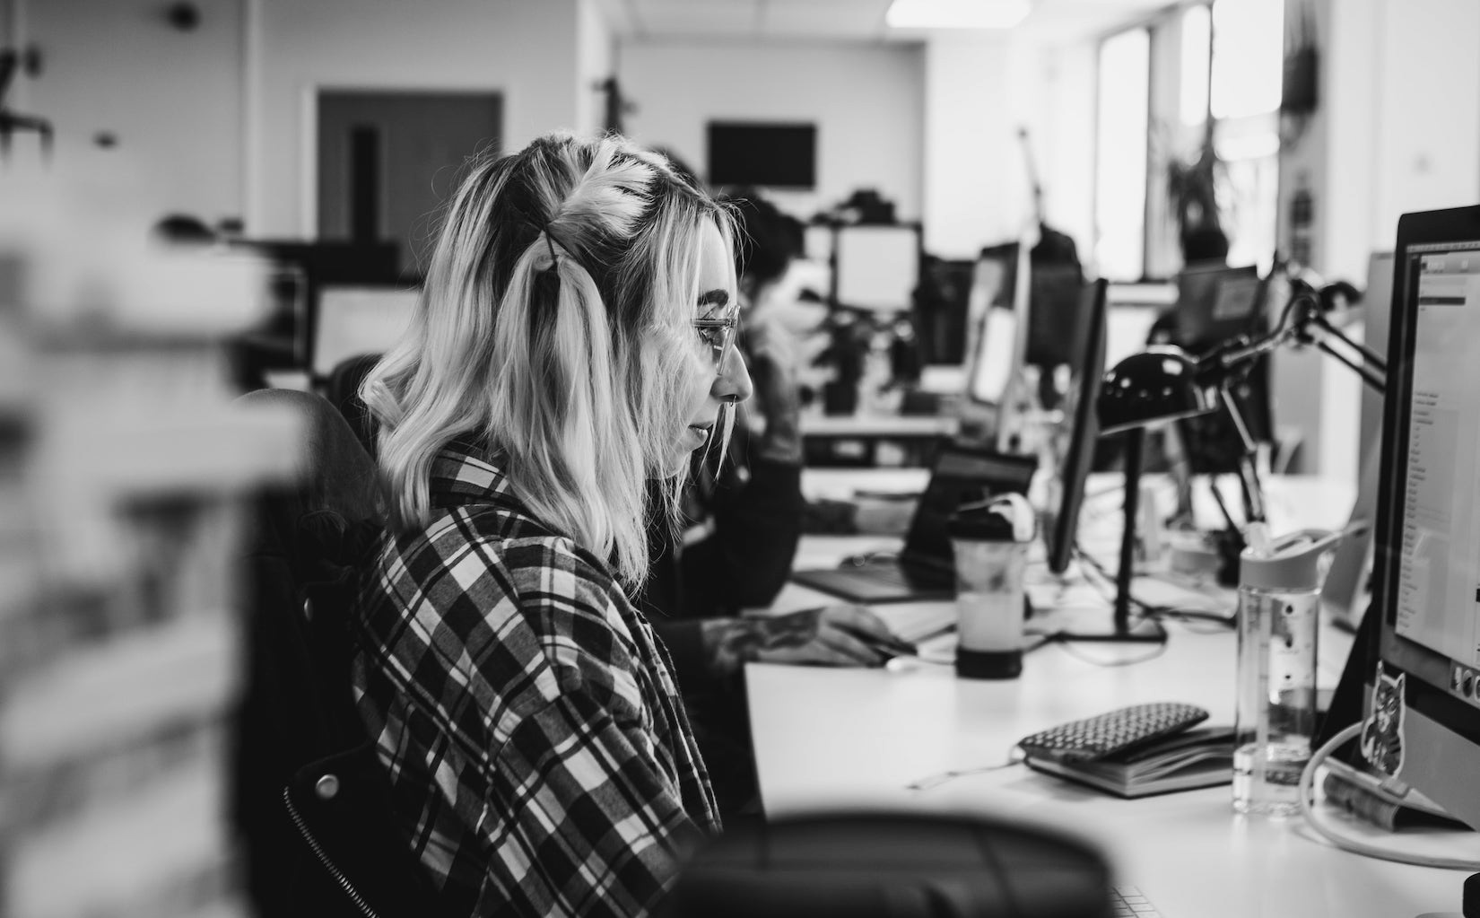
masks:
<svg viewBox="0 0 1480 918"><path fill-rule="evenodd" d="M1221 395L1222 406L1233 416L1233 422L1239 428L1239 434L1243 437L1246 446L1243 478L1246 490L1251 495L1251 506L1255 509L1252 518L1262 520L1264 502L1252 463L1254 443L1249 437L1248 425L1243 422L1234 400L1228 394L1230 385L1239 375L1248 372L1257 360L1283 345L1298 349L1314 344L1359 373L1363 382L1378 392L1385 389L1387 364L1382 358L1372 352L1372 349L1342 335L1339 329L1326 320L1325 312L1332 308L1336 296L1354 299L1356 289L1342 281L1316 287L1307 281L1296 280L1292 287L1291 301L1280 314L1274 330L1258 341L1234 339L1228 345L1197 360L1188 357L1181 348L1169 345L1151 346L1141 354L1126 357L1106 373L1095 401L1100 432L1126 434L1125 524L1120 535L1120 566L1116 570L1114 631L1107 635L1064 635L1066 638L1109 641L1160 640L1157 634L1144 634L1131 626L1131 570L1135 554L1141 446L1147 428L1218 410ZM1333 344L1339 344L1342 348L1354 352L1356 358L1338 351Z"/></svg>

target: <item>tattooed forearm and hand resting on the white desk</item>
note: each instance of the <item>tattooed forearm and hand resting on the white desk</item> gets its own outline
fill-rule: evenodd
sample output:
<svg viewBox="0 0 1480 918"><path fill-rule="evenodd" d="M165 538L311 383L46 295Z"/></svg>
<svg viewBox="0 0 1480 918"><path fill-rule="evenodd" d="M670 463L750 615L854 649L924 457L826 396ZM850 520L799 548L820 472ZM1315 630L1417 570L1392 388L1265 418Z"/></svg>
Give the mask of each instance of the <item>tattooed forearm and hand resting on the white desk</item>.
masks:
<svg viewBox="0 0 1480 918"><path fill-rule="evenodd" d="M737 672L747 662L881 666L888 654L875 644L898 643L876 614L852 604L770 619L715 619L703 634L716 674Z"/></svg>

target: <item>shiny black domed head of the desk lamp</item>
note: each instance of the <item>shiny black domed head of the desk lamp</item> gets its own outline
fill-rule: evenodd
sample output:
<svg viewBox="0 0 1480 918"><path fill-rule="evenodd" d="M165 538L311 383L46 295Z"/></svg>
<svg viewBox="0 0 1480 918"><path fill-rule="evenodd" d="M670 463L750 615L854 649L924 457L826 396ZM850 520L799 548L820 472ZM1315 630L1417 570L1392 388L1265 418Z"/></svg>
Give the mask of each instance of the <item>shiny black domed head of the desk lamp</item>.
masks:
<svg viewBox="0 0 1480 918"><path fill-rule="evenodd" d="M1197 378L1197 361L1171 345L1154 345L1117 363L1095 400L1101 434L1157 426L1217 407L1217 391Z"/></svg>

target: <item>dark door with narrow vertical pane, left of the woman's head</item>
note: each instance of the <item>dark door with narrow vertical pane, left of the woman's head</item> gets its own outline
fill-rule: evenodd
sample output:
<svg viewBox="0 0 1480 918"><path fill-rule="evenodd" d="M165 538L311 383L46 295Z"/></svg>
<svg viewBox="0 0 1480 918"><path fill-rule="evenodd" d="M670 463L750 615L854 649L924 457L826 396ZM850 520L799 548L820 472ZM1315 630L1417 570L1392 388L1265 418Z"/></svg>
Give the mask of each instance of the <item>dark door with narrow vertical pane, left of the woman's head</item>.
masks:
<svg viewBox="0 0 1480 918"><path fill-rule="evenodd" d="M394 240L420 275L463 161L497 153L502 129L499 93L321 90L318 238Z"/></svg>

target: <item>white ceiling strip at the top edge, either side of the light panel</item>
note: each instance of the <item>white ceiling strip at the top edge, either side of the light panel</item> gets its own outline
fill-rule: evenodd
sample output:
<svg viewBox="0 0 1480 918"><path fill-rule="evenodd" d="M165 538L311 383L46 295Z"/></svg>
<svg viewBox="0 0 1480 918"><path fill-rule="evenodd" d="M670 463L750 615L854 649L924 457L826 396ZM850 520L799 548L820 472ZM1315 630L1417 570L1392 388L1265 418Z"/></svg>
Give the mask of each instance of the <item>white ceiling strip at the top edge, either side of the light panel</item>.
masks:
<svg viewBox="0 0 1480 918"><path fill-rule="evenodd" d="M1134 22L1175 0L1035 0L1020 31L1074 40ZM602 0L619 38L919 41L884 24L889 0Z"/></svg>

